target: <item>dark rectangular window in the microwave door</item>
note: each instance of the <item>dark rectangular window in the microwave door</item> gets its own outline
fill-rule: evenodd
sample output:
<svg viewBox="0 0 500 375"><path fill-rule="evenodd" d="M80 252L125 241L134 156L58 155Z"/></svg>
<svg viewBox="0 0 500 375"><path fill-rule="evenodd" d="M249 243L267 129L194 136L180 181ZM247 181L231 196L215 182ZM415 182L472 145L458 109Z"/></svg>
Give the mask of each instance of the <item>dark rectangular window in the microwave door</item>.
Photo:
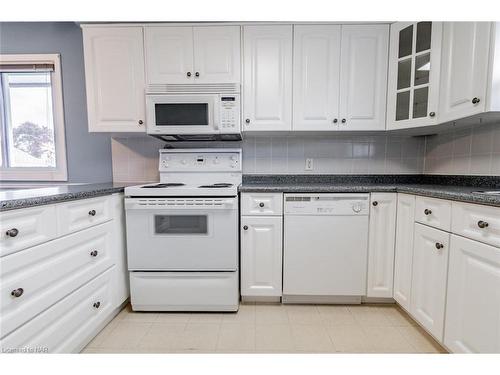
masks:
<svg viewBox="0 0 500 375"><path fill-rule="evenodd" d="M208 103L155 104L156 126L208 126Z"/></svg>

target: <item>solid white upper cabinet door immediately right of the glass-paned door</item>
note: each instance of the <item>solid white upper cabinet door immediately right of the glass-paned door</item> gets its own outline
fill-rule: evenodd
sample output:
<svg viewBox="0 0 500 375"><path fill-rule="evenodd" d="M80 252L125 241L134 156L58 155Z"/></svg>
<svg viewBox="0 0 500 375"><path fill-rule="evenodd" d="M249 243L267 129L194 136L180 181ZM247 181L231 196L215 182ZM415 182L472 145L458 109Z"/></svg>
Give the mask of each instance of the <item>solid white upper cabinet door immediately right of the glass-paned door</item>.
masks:
<svg viewBox="0 0 500 375"><path fill-rule="evenodd" d="M490 33L490 22L444 23L440 122L485 111Z"/></svg>

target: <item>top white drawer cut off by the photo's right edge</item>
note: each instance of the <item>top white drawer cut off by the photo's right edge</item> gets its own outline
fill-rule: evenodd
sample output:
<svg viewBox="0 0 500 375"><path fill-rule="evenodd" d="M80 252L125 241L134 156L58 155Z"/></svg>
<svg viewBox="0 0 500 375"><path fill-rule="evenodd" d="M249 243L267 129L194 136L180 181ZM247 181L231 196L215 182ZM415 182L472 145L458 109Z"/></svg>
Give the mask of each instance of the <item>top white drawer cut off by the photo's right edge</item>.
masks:
<svg viewBox="0 0 500 375"><path fill-rule="evenodd" d="M453 202L453 233L500 247L500 208Z"/></svg>

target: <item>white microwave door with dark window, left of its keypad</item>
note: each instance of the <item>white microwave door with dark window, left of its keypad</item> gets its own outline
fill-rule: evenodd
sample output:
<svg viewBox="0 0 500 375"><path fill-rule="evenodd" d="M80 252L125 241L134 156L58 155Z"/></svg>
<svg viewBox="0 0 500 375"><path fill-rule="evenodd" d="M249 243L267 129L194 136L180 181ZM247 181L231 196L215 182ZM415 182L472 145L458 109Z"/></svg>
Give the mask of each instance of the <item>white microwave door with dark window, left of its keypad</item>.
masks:
<svg viewBox="0 0 500 375"><path fill-rule="evenodd" d="M146 95L147 131L153 135L219 133L218 95Z"/></svg>

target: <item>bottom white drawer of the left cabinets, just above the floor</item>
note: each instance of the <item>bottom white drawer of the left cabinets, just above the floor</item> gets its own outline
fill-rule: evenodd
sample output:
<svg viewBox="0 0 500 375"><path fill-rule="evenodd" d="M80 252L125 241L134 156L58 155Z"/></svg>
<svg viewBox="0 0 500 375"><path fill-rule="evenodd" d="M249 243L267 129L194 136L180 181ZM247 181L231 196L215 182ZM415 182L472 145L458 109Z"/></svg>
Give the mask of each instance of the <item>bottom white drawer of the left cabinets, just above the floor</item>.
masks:
<svg viewBox="0 0 500 375"><path fill-rule="evenodd" d="M5 352L39 348L49 353L76 352L113 311L114 267L42 312L1 341Z"/></svg>

